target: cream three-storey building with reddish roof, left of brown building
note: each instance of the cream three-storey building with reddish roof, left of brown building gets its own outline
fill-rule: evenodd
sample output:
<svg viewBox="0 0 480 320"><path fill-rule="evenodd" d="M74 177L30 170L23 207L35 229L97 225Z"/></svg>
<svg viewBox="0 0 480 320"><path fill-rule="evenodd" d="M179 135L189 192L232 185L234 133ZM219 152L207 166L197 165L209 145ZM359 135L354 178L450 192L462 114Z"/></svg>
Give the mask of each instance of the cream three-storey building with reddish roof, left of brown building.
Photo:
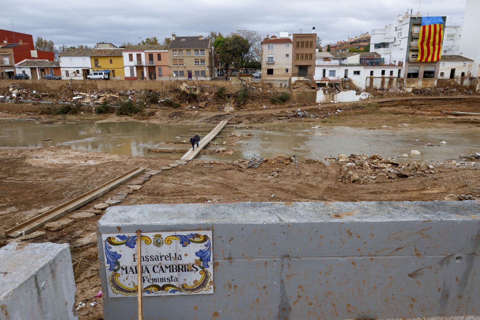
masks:
<svg viewBox="0 0 480 320"><path fill-rule="evenodd" d="M262 79L274 86L289 87L292 68L292 40L287 32L264 39L262 45Z"/></svg>

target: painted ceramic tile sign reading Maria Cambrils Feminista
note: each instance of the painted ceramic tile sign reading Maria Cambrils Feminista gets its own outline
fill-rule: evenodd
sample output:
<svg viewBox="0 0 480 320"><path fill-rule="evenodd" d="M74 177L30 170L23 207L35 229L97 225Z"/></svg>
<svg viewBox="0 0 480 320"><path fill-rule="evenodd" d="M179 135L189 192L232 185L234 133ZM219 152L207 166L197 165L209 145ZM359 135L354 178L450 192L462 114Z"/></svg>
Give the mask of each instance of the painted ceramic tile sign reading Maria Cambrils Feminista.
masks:
<svg viewBox="0 0 480 320"><path fill-rule="evenodd" d="M212 231L102 234L109 297L137 295L137 262L142 262L144 296L213 293Z"/></svg>

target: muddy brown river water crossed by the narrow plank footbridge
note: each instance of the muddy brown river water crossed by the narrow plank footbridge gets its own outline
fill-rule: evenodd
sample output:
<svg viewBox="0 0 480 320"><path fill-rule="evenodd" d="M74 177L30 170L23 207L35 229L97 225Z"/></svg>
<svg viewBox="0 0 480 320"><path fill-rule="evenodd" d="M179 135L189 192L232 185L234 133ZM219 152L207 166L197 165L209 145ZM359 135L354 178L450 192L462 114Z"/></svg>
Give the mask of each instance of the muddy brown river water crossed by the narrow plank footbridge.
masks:
<svg viewBox="0 0 480 320"><path fill-rule="evenodd" d="M458 154L480 151L480 128L469 125L417 124L399 127L398 124L352 124L336 125L324 123L277 123L272 127L280 130L238 130L252 133L252 138L241 138L238 152L229 157L201 155L201 159L235 160L259 154L263 157L297 154L299 160L321 159L337 154L374 154L397 157L399 160L455 159ZM318 127L318 128L315 128ZM63 123L36 124L26 122L0 122L0 146L40 147L59 144L64 147L128 155L171 155L152 154L148 148L159 147L160 142L190 140L190 129L205 128L192 125L159 125L151 123ZM230 129L229 129L230 130ZM199 132L205 136L207 132ZM43 141L51 139L51 141ZM216 138L214 141L228 141ZM445 141L447 144L439 144ZM426 146L432 143L433 146ZM189 145L161 146L186 149ZM214 148L212 146L209 149ZM416 149L421 155L410 155Z"/></svg>

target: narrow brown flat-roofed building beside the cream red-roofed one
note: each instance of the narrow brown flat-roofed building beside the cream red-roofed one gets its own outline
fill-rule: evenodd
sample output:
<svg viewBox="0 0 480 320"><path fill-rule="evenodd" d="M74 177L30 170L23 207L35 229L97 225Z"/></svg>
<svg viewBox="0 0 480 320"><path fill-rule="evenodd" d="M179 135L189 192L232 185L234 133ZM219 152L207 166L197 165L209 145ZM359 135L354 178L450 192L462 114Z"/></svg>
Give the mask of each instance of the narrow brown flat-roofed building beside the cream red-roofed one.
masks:
<svg viewBox="0 0 480 320"><path fill-rule="evenodd" d="M293 34L292 36L291 82L293 84L297 81L308 81L312 84L315 74L317 34Z"/></svg>

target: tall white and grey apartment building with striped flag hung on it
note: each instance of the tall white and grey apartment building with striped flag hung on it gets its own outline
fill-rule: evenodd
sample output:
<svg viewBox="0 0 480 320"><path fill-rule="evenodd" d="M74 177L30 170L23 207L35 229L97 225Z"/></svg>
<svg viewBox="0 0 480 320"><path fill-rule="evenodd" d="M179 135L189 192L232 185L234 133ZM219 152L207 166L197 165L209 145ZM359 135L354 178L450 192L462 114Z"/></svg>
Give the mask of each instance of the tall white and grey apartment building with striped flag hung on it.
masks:
<svg viewBox="0 0 480 320"><path fill-rule="evenodd" d="M444 29L446 17L441 17ZM392 24L382 29L373 29L370 51L379 53L389 64L401 66L403 63L403 88L431 88L437 84L440 61L421 62L419 57L419 36L422 16L405 13L398 15ZM441 55L441 53L440 53Z"/></svg>

